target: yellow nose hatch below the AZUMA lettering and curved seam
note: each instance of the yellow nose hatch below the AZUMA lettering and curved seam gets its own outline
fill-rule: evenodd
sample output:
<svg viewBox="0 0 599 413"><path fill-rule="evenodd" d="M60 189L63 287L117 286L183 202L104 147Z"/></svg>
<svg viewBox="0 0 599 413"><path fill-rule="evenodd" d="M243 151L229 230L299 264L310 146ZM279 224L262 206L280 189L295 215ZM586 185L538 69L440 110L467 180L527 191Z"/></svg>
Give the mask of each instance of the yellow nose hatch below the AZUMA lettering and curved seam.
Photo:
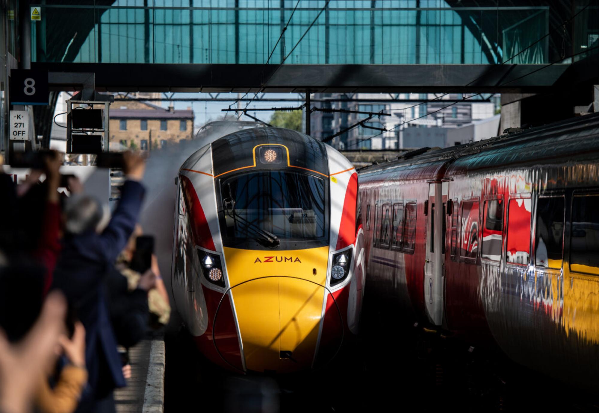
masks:
<svg viewBox="0 0 599 413"><path fill-rule="evenodd" d="M292 277L256 278L231 290L246 369L285 373L314 360L325 289Z"/></svg>

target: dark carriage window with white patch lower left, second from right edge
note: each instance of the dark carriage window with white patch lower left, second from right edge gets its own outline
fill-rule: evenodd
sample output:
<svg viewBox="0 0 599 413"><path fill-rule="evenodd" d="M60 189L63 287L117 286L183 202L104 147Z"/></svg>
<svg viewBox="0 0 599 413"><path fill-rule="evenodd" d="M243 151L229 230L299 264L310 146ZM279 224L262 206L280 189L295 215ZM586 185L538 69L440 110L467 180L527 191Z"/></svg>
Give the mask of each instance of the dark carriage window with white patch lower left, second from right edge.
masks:
<svg viewBox="0 0 599 413"><path fill-rule="evenodd" d="M563 244L564 197L539 198L534 264L543 268L561 268Z"/></svg>

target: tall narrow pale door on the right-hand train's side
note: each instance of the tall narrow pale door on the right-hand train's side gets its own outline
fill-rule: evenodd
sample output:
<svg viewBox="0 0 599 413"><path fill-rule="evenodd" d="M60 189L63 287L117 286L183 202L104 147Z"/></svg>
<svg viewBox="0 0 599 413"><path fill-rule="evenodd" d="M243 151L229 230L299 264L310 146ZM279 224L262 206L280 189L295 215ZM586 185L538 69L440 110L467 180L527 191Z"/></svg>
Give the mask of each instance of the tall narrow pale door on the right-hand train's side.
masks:
<svg viewBox="0 0 599 413"><path fill-rule="evenodd" d="M447 205L447 183L428 184L428 211L426 221L426 262L424 270L424 302L431 323L443 323L443 265L444 265L444 214Z"/></svg>

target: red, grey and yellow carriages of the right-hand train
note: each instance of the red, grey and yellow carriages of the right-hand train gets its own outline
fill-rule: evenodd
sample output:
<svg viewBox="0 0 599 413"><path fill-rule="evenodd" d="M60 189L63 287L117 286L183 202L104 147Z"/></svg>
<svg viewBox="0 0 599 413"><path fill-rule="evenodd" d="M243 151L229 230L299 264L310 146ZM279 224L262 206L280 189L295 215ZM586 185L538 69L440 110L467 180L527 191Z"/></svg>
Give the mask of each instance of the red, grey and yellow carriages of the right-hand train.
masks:
<svg viewBox="0 0 599 413"><path fill-rule="evenodd" d="M359 171L368 294L599 387L599 114Z"/></svg>

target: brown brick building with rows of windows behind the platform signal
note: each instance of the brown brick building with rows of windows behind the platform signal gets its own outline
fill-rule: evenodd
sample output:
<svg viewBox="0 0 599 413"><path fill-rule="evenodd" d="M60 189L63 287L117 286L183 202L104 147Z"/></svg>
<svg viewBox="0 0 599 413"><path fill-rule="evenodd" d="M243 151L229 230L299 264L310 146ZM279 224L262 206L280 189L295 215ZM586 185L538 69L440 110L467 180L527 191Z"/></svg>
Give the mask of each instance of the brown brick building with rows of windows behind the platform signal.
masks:
<svg viewBox="0 0 599 413"><path fill-rule="evenodd" d="M118 105L118 109L115 108ZM149 102L115 102L110 108L110 147L161 148L193 139L193 110L165 109ZM120 145L119 145L120 144Z"/></svg>

